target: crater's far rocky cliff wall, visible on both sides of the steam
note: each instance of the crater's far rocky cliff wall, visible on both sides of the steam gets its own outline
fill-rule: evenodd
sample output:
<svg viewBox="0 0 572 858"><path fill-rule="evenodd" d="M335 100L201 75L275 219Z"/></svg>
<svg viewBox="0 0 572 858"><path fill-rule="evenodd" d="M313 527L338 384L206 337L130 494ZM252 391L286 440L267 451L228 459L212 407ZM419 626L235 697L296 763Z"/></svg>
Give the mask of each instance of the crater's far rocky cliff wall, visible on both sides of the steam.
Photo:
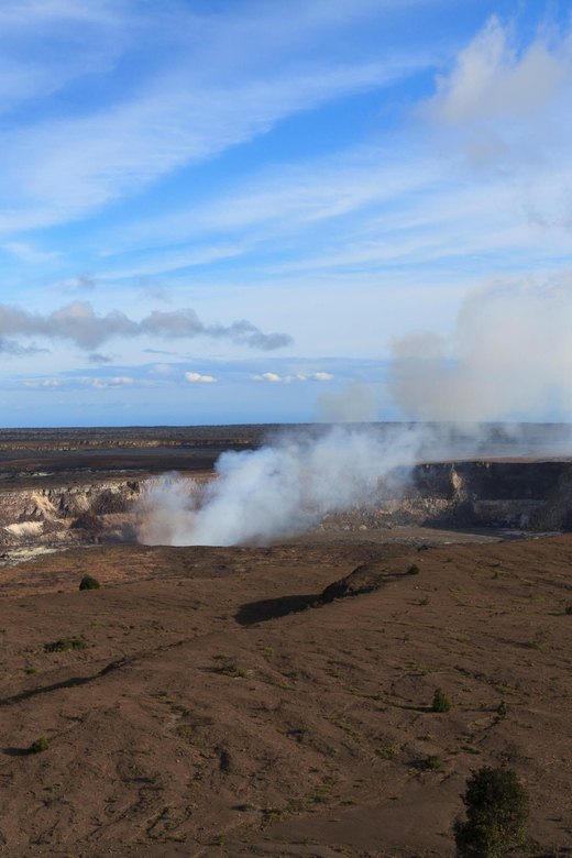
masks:
<svg viewBox="0 0 572 858"><path fill-rule="evenodd" d="M205 476L196 477L199 483ZM147 481L36 485L0 493L0 546L134 541ZM189 484L190 486L190 484ZM318 513L319 510L312 510ZM572 529L572 463L449 462L395 471L373 497L319 530L392 525Z"/></svg>

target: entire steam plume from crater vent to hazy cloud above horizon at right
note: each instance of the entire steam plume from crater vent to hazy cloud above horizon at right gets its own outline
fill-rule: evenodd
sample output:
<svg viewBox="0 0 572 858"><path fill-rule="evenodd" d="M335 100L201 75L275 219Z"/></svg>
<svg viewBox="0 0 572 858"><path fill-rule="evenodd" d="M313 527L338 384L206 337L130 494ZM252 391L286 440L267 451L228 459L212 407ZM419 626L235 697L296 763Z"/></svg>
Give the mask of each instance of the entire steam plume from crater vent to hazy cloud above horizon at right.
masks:
<svg viewBox="0 0 572 858"><path fill-rule="evenodd" d="M449 338L418 332L395 343L395 398L407 417L435 424L337 426L227 452L219 479L189 498L184 482L157 483L141 541L264 542L301 531L327 513L395 496L418 462L482 455L570 453L570 432L499 419L572 415L572 288L509 283L469 295ZM348 419L367 407L361 388L322 397ZM463 427L454 421L466 421ZM556 446L560 447L558 450ZM493 446L495 449L493 449Z"/></svg>

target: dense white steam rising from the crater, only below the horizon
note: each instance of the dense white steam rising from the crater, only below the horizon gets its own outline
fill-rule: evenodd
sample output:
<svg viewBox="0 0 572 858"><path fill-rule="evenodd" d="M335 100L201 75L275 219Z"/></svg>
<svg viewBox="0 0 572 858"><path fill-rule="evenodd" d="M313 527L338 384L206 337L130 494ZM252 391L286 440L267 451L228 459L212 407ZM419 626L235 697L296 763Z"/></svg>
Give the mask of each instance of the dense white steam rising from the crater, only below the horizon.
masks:
<svg viewBox="0 0 572 858"><path fill-rule="evenodd" d="M415 463L422 437L413 426L384 432L333 427L260 450L226 452L217 461L219 479L207 484L198 508L186 481L155 483L140 541L231 546L306 530L326 513L372 498L393 469Z"/></svg>

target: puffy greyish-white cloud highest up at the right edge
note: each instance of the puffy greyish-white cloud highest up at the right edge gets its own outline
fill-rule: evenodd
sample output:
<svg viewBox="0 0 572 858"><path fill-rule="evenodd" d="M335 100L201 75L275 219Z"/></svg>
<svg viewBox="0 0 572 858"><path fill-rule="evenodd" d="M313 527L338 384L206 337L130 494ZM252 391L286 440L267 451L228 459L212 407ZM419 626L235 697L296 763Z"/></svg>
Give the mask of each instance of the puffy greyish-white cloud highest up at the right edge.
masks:
<svg viewBox="0 0 572 858"><path fill-rule="evenodd" d="M572 133L572 31L539 31L524 47L514 42L493 16L420 111L443 145L505 175L568 160Z"/></svg>

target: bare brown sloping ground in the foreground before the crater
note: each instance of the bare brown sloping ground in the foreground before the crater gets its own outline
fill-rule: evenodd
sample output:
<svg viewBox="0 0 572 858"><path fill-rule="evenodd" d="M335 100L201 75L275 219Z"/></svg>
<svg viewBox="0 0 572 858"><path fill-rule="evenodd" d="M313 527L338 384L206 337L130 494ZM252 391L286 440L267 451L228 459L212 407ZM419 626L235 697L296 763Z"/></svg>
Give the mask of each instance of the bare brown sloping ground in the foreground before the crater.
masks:
<svg viewBox="0 0 572 858"><path fill-rule="evenodd" d="M572 851L571 559L559 536L7 566L3 854L447 858L470 770L502 762L530 793L537 854ZM86 573L102 588L79 592ZM89 646L46 650L62 638Z"/></svg>

